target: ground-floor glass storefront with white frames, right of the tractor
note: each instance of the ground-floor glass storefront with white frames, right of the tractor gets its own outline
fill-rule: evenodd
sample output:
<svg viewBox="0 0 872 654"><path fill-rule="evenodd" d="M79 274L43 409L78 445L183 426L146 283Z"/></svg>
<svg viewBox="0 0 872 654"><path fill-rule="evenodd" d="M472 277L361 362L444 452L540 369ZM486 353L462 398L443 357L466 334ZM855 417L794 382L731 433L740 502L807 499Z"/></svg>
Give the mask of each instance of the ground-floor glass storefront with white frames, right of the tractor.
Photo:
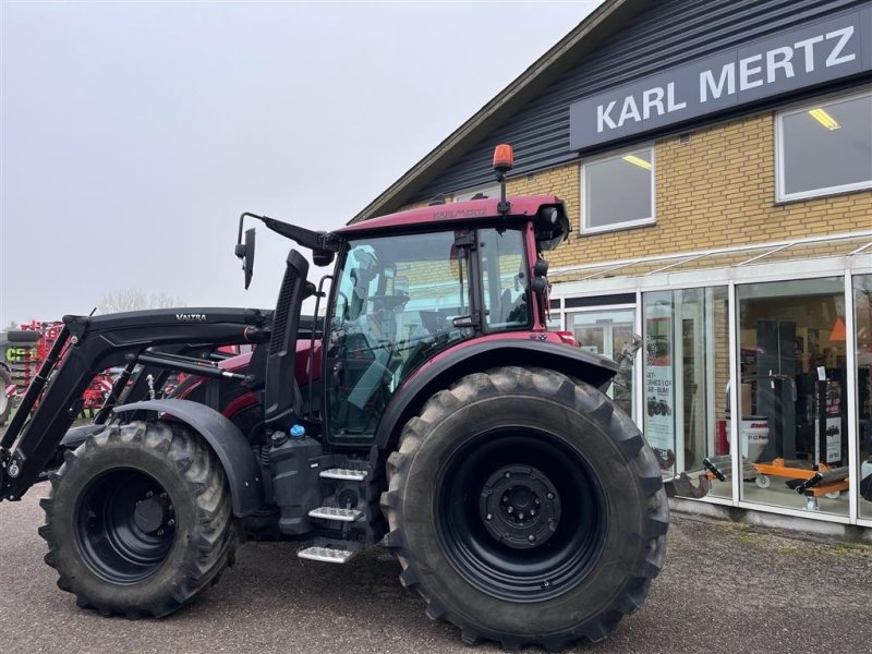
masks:
<svg viewBox="0 0 872 654"><path fill-rule="evenodd" d="M681 495L872 525L869 245L848 266L792 264L788 279L776 264L701 270L687 284L674 274L570 282L589 293L561 294L555 308L591 352L614 356L642 336L632 387L610 392L633 410L664 479L690 479ZM820 276L800 278L807 265ZM718 283L705 286L710 276ZM603 302L615 289L627 304Z"/></svg>

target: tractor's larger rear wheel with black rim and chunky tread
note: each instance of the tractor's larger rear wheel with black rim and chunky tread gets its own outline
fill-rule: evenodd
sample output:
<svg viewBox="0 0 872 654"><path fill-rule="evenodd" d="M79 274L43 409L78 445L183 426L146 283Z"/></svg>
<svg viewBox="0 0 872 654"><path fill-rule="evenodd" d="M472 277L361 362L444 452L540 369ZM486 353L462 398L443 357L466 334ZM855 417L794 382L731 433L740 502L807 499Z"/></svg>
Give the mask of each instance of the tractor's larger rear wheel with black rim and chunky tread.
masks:
<svg viewBox="0 0 872 654"><path fill-rule="evenodd" d="M663 565L654 453L602 392L554 371L501 367L437 392L387 471L400 580L467 643L601 640Z"/></svg>

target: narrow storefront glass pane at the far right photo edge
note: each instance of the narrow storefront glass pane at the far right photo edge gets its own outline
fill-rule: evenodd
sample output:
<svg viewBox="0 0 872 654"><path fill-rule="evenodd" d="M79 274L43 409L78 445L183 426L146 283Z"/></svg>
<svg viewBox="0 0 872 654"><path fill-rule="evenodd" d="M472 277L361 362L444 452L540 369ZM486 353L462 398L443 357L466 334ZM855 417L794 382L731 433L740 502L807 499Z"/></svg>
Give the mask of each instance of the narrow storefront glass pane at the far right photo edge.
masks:
<svg viewBox="0 0 872 654"><path fill-rule="evenodd" d="M872 519L872 275L853 278L860 518Z"/></svg>

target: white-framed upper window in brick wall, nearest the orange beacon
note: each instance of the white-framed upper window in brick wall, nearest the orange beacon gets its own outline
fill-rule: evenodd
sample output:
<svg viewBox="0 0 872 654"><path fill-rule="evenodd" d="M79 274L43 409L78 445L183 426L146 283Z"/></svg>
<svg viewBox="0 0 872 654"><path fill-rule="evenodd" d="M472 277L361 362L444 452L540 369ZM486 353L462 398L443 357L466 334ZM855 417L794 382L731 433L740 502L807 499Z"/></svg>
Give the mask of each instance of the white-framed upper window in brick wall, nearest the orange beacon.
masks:
<svg viewBox="0 0 872 654"><path fill-rule="evenodd" d="M583 232L654 222L654 148L591 161L581 174Z"/></svg>

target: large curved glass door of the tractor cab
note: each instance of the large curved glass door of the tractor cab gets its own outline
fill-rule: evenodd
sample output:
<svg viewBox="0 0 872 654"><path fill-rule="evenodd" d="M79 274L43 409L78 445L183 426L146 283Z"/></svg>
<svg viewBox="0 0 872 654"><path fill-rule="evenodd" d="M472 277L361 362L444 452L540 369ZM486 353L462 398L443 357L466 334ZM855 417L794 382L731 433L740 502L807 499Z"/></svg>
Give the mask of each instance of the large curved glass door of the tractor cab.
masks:
<svg viewBox="0 0 872 654"><path fill-rule="evenodd" d="M393 391L422 363L472 336L469 246L453 232L350 244L327 341L331 439L372 439Z"/></svg>

